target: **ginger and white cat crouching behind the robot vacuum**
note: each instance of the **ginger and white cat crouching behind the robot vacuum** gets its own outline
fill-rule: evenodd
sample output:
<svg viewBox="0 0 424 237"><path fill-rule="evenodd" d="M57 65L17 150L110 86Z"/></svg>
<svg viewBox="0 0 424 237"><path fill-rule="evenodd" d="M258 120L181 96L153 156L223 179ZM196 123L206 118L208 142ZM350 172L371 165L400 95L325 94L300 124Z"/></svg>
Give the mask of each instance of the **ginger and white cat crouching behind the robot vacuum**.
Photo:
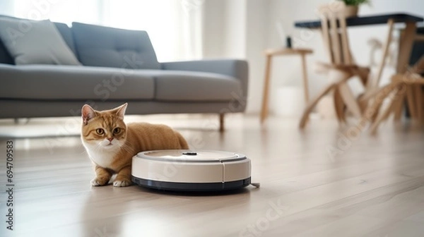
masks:
<svg viewBox="0 0 424 237"><path fill-rule="evenodd" d="M131 185L131 160L147 150L189 149L176 130L151 123L124 123L127 104L96 111L88 104L82 108L81 140L95 166L93 186L105 186L117 174L113 186Z"/></svg>

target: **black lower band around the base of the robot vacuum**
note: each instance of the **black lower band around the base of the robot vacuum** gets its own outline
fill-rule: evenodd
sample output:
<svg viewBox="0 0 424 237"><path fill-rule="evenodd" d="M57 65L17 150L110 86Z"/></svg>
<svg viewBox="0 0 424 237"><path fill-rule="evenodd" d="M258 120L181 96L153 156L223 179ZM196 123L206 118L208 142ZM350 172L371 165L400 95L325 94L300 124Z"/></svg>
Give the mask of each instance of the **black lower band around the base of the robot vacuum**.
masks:
<svg viewBox="0 0 424 237"><path fill-rule="evenodd" d="M164 181L151 181L144 178L137 178L131 176L131 180L139 186L146 188L154 188L158 190L172 190L172 191L222 191L234 190L238 188L245 188L250 184L250 177L240 181L231 181L225 183L175 183Z"/></svg>

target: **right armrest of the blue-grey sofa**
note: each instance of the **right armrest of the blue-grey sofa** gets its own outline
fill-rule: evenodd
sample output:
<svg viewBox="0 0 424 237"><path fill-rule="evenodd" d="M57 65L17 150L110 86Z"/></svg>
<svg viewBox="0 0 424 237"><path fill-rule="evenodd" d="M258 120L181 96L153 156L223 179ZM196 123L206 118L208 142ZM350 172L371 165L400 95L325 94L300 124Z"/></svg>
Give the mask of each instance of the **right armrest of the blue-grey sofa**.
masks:
<svg viewBox="0 0 424 237"><path fill-rule="evenodd" d="M247 99L249 66L247 61L237 59L204 59L197 61L175 61L160 63L163 70L199 71L218 73L237 78L242 83L242 97Z"/></svg>

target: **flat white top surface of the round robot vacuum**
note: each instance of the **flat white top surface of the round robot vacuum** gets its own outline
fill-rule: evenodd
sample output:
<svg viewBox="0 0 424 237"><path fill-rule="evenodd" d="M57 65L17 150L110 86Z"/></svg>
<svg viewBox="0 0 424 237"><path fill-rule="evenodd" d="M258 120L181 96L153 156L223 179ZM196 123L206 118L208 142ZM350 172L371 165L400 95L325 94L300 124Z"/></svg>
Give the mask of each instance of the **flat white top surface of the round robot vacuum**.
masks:
<svg viewBox="0 0 424 237"><path fill-rule="evenodd" d="M141 159L167 162L235 162L247 159L243 154L220 152L212 150L154 150L140 152L136 155Z"/></svg>

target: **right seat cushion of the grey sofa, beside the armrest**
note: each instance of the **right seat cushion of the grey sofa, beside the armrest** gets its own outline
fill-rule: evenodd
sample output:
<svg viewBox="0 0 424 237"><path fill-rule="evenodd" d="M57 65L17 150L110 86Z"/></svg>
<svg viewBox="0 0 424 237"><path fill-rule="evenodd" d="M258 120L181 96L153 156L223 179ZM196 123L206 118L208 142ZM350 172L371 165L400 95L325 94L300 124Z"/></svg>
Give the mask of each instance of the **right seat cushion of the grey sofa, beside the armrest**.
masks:
<svg viewBox="0 0 424 237"><path fill-rule="evenodd" d="M240 94L240 80L218 73L145 70L155 79L155 100L222 102Z"/></svg>

